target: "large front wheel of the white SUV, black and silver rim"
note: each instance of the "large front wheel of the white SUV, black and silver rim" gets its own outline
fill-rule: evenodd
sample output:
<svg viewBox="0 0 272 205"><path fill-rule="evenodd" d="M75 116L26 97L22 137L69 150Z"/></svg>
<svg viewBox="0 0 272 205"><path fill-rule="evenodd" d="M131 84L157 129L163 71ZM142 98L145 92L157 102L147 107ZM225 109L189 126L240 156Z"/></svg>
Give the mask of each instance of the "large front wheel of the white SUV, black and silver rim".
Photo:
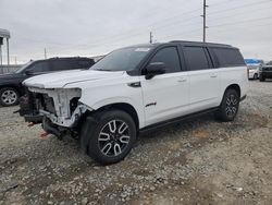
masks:
<svg viewBox="0 0 272 205"><path fill-rule="evenodd" d="M135 140L135 122L121 110L108 110L87 117L81 132L81 147L102 165L123 160Z"/></svg>

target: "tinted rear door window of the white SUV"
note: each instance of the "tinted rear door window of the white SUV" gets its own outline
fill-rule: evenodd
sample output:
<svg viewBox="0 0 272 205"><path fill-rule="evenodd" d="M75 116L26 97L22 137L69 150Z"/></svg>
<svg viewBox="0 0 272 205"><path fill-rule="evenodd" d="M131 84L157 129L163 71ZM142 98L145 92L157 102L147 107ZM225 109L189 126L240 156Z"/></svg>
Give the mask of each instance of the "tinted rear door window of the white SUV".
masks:
<svg viewBox="0 0 272 205"><path fill-rule="evenodd" d="M184 57L190 71L209 69L209 62L202 47L184 47Z"/></svg>

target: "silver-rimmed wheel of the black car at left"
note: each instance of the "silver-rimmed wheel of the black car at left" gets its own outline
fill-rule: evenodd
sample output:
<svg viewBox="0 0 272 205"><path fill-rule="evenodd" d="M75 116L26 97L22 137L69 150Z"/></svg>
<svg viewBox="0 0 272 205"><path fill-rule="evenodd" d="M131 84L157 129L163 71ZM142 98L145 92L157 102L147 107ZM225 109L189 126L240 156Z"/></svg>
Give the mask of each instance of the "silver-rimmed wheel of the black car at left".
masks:
<svg viewBox="0 0 272 205"><path fill-rule="evenodd" d="M0 89L0 105L4 107L15 106L18 104L18 92L13 87L3 87Z"/></svg>

